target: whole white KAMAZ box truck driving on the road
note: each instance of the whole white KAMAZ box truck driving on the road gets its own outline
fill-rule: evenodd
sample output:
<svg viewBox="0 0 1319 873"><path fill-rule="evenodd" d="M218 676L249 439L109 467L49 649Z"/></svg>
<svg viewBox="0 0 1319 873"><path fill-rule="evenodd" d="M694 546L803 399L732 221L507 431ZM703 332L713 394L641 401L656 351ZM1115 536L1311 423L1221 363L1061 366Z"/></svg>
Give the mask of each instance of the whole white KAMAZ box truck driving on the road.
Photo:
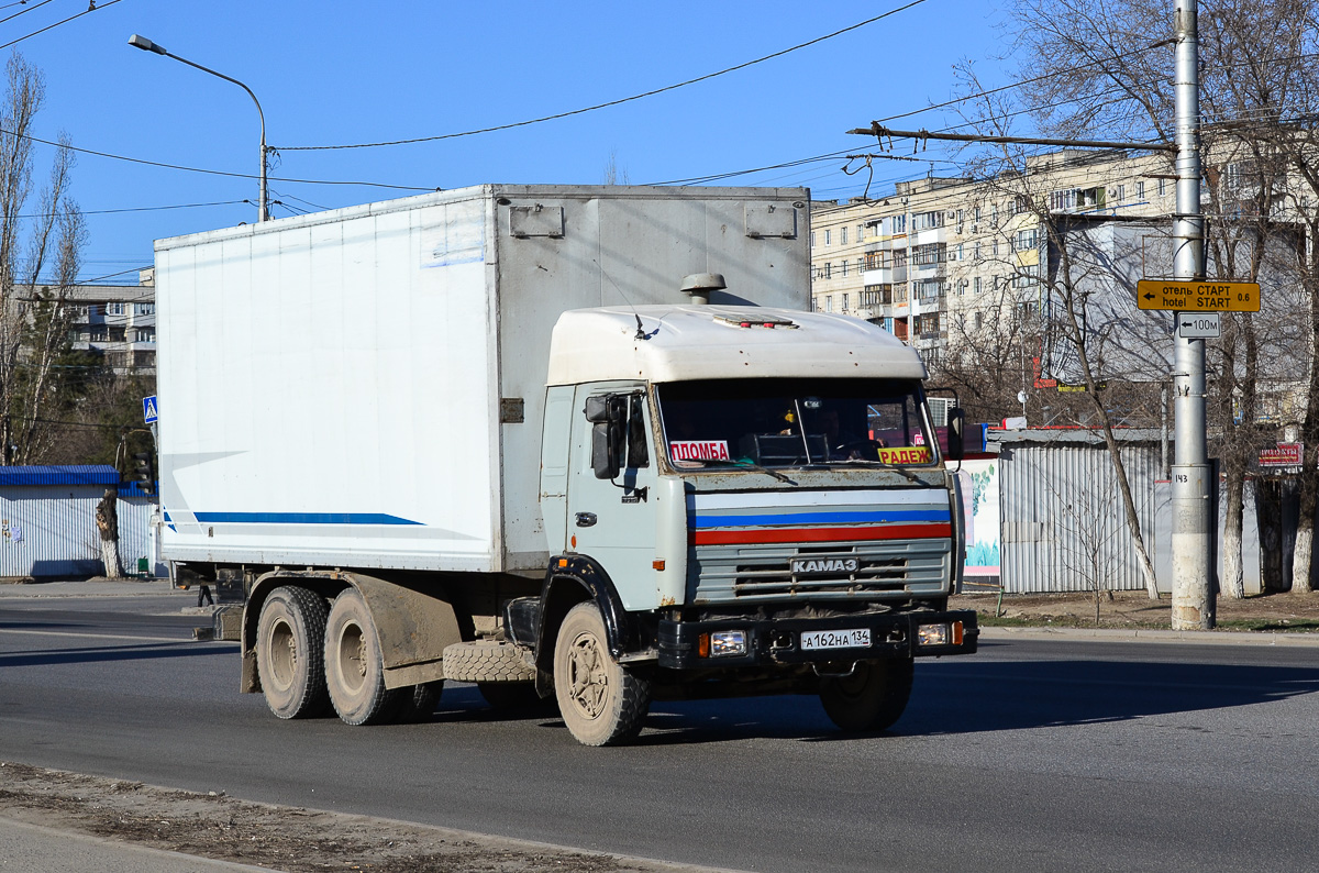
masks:
<svg viewBox="0 0 1319 873"><path fill-rule="evenodd" d="M809 191L487 185L156 244L162 551L280 717L818 694L892 724L960 505L917 353L810 310ZM954 415L954 423L960 421Z"/></svg>

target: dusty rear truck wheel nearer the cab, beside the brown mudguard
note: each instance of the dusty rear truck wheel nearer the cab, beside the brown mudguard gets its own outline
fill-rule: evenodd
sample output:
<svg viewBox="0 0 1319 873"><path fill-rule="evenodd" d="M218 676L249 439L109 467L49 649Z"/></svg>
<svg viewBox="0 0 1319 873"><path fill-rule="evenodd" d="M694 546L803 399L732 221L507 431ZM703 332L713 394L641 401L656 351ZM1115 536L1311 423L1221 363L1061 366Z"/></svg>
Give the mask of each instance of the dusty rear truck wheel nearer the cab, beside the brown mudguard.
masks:
<svg viewBox="0 0 1319 873"><path fill-rule="evenodd" d="M355 588L330 607L324 657L330 702L346 724L383 724L394 716L404 690L385 687L376 622Z"/></svg>

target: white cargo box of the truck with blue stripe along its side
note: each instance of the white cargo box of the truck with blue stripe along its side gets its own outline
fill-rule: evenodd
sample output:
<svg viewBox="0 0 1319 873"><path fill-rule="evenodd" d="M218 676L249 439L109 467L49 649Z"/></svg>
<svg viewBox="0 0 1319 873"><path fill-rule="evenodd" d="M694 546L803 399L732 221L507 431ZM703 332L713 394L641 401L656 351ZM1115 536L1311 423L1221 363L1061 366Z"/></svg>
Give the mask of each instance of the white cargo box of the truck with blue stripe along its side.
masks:
<svg viewBox="0 0 1319 873"><path fill-rule="evenodd" d="M558 315L707 272L809 309L807 198L485 185L158 241L165 557L543 572Z"/></svg>

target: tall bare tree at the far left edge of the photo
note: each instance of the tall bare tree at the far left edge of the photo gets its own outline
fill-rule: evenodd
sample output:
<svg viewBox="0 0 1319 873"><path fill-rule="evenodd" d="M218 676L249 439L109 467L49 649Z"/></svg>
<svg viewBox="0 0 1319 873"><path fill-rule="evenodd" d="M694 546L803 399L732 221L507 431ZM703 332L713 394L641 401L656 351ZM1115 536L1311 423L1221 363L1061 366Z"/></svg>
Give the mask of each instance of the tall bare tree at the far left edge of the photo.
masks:
<svg viewBox="0 0 1319 873"><path fill-rule="evenodd" d="M67 381L57 367L69 349L77 282L87 231L70 199L74 165L66 137L50 178L33 193L33 119L45 98L41 73L21 55L5 67L0 103L0 463L25 464L50 444L49 411ZM28 211L34 212L30 218Z"/></svg>

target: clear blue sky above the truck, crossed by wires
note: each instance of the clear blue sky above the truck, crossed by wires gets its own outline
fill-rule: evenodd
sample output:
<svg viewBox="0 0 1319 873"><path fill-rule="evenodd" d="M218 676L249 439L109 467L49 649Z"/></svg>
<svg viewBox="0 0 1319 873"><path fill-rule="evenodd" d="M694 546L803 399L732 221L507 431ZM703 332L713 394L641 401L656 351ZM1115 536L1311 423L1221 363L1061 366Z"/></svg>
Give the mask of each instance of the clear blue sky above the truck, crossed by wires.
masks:
<svg viewBox="0 0 1319 873"><path fill-rule="evenodd" d="M99 0L98 11L3 54L18 50L45 73L46 104L34 128L42 138L65 132L83 149L256 174L251 99L228 82L131 47L129 34L140 33L252 88L266 140L282 149L274 179L402 186L272 181L272 199L288 204L272 208L281 218L412 193L404 187L600 183L611 156L628 181L652 183L873 150L872 140L845 131L947 100L959 61L983 62L987 86L1009 80L991 61L1004 47L996 4L923 0L727 75L510 131L389 148L289 146L438 136L578 109L781 51L906 1ZM0 18L17 16L0 22L0 42L86 9L87 0L0 0ZM952 119L935 111L894 125L934 129ZM38 178L49 160L50 150L38 149ZM838 158L724 183L802 185L820 199L860 194L867 171L845 175L842 166ZM880 161L871 193L930 169ZM83 278L149 265L154 239L252 222L255 206L230 202L255 202L256 193L255 179L80 154L74 196L90 229ZM223 204L189 206L198 203ZM153 208L177 206L186 208ZM98 214L142 208L149 211Z"/></svg>

